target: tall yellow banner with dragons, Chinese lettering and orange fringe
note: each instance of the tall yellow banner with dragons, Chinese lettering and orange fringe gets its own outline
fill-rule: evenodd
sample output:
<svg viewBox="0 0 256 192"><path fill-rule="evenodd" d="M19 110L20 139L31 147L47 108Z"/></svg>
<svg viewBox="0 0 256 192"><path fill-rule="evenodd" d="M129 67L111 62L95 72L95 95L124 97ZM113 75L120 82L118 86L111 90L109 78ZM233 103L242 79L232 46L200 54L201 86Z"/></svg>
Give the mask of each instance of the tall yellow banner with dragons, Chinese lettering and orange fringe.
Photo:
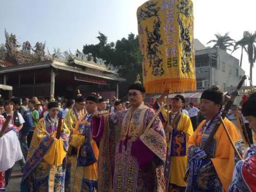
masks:
<svg viewBox="0 0 256 192"><path fill-rule="evenodd" d="M147 1L137 18L146 93L196 90L191 0Z"/></svg>

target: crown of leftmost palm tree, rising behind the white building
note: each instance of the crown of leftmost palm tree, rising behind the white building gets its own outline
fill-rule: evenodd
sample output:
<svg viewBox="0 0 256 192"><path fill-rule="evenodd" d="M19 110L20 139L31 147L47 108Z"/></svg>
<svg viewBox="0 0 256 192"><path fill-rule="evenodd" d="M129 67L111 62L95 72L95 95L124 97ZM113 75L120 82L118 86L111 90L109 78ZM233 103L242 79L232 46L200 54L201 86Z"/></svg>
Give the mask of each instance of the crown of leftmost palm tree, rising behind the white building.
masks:
<svg viewBox="0 0 256 192"><path fill-rule="evenodd" d="M215 42L215 45L213 46L213 48L220 48L223 51L231 51L231 49L229 49L228 47L233 46L233 42L234 39L232 39L230 36L228 36L228 33L225 33L225 35L221 35L219 33L215 34L217 40L210 40L209 42L207 42L207 44L211 43L211 42Z"/></svg>

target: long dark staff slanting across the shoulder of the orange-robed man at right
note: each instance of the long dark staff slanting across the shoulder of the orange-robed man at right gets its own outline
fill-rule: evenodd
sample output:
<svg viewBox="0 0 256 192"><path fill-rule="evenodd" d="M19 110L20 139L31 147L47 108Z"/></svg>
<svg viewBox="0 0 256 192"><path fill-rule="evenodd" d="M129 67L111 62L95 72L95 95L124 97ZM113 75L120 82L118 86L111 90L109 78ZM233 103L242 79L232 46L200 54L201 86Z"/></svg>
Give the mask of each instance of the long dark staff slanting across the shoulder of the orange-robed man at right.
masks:
<svg viewBox="0 0 256 192"><path fill-rule="evenodd" d="M224 118L226 117L228 111L230 110L230 108L231 108L231 106L232 106L232 104L233 104L233 102L234 102L234 99L239 95L239 90L240 90L240 88L242 87L242 85L243 85L245 79L246 79L246 76L243 76L243 77L242 77L242 80L241 80L241 81L239 82L239 84L238 84L237 89L234 90L234 91L231 93L231 98L230 98L230 100L228 101L227 105L226 105L225 108L224 108L224 111L223 111L222 114L221 114L221 118L222 118L222 119L224 119ZM210 136L209 136L209 138L207 139L207 141L206 141L206 143L205 143L205 145L204 145L204 147L203 147L203 150L204 150L205 152L206 152L207 148L210 146L210 143L212 142L212 140L214 139L214 136L215 136L216 132L218 131L218 128L219 128L220 124L221 124L221 121L217 122L216 125L215 125L215 127L214 127L214 130L212 130L212 132L210 133Z"/></svg>

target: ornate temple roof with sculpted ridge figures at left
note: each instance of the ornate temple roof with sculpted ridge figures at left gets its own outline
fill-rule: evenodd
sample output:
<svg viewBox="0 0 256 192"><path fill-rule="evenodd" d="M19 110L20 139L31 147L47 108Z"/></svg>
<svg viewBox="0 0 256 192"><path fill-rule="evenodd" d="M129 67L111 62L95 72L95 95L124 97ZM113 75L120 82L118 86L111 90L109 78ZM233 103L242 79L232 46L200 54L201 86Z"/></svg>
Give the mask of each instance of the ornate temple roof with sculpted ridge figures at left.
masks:
<svg viewBox="0 0 256 192"><path fill-rule="evenodd" d="M105 60L94 58L91 53L84 54L77 50L72 54L71 51L60 52L60 49L54 48L53 54L49 51L46 54L45 42L36 42L32 47L29 41L23 42L22 49L19 49L21 45L14 34L9 35L5 30L5 36L5 45L0 45L0 74L53 67L104 79L125 81L119 77L118 68L110 63L106 65Z"/></svg>

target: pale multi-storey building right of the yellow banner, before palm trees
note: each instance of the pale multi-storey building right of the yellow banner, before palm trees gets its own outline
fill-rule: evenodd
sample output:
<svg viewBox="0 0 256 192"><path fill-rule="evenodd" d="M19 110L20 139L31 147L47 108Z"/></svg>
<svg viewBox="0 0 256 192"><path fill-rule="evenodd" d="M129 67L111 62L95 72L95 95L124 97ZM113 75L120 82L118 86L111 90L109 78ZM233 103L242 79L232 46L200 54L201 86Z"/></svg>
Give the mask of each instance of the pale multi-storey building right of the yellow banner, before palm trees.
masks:
<svg viewBox="0 0 256 192"><path fill-rule="evenodd" d="M237 87L245 71L239 59L219 48L205 48L195 39L197 90L218 85L223 92L227 87Z"/></svg>

